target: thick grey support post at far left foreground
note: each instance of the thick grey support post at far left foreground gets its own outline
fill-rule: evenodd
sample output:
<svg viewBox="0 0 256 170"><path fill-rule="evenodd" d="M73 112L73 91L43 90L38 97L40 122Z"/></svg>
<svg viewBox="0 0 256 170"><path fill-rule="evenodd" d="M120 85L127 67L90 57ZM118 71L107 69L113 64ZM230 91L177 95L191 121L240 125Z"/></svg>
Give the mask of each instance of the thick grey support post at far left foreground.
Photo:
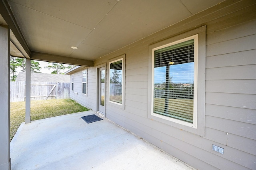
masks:
<svg viewBox="0 0 256 170"><path fill-rule="evenodd" d="M0 25L0 170L10 170L10 29Z"/></svg>

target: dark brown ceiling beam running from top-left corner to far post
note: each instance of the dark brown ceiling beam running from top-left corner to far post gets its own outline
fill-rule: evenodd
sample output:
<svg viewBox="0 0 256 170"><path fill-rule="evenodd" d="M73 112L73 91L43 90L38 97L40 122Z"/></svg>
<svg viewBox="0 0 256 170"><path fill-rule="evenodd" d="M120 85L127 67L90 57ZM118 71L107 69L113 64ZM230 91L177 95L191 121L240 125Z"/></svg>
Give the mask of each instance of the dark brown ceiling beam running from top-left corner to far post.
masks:
<svg viewBox="0 0 256 170"><path fill-rule="evenodd" d="M12 30L15 37L18 39L19 43L22 45L22 48L26 52L25 57L30 58L30 49L28 48L28 44L22 35L20 27L18 26L17 21L15 20L14 15L12 14L12 10L7 2L7 0L0 0L0 14L8 24L8 27Z"/></svg>

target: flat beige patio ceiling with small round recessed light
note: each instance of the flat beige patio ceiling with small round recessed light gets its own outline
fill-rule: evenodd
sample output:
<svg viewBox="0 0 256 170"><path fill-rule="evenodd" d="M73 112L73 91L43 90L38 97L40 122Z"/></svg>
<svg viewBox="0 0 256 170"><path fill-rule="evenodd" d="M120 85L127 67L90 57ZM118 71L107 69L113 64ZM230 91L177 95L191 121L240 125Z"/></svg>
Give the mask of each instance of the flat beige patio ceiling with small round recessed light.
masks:
<svg viewBox="0 0 256 170"><path fill-rule="evenodd" d="M10 10L0 10L0 23L12 30L13 56L72 64L82 59L93 66L95 59L222 1L1 0ZM16 27L6 17L10 12Z"/></svg>

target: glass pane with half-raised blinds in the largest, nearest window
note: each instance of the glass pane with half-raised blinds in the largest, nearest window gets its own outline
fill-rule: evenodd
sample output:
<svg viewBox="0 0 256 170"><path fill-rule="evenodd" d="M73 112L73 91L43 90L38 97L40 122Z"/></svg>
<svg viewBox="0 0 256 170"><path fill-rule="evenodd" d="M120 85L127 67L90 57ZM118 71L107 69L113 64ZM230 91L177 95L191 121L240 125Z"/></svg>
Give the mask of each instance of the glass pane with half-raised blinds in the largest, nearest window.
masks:
<svg viewBox="0 0 256 170"><path fill-rule="evenodd" d="M194 39L153 52L153 112L193 123Z"/></svg>

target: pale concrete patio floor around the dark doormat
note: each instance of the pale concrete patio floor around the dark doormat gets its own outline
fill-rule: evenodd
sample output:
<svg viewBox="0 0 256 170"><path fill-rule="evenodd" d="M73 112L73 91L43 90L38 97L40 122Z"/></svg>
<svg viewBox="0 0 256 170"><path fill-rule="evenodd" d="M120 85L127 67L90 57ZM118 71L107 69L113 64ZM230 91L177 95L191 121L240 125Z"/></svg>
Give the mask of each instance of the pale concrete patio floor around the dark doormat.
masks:
<svg viewBox="0 0 256 170"><path fill-rule="evenodd" d="M10 143L12 170L191 170L108 119L85 111L22 123ZM97 115L97 114L96 114Z"/></svg>

